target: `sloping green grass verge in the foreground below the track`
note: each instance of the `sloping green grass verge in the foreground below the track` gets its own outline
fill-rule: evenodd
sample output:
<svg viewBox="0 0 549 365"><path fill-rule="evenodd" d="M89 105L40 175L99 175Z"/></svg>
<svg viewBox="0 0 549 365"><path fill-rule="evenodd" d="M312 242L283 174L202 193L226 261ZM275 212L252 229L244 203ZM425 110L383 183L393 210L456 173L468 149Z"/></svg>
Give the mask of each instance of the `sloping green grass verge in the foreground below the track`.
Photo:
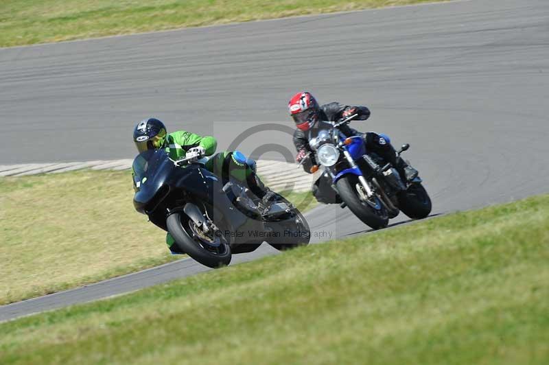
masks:
<svg viewBox="0 0 549 365"><path fill-rule="evenodd" d="M0 324L1 364L548 364L549 196Z"/></svg>

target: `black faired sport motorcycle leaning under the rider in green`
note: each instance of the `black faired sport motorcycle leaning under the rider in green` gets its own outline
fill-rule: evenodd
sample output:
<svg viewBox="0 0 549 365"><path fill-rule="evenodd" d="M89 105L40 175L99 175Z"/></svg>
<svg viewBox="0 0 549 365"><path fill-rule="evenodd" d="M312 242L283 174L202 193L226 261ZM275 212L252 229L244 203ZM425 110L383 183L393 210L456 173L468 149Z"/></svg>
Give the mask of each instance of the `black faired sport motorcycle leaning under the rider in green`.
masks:
<svg viewBox="0 0 549 365"><path fill-rule="evenodd" d="M178 252L218 268L263 242L277 250L309 244L309 225L291 202L275 193L264 203L231 178L229 166L217 176L205 162L147 150L132 165L135 209L170 232Z"/></svg>

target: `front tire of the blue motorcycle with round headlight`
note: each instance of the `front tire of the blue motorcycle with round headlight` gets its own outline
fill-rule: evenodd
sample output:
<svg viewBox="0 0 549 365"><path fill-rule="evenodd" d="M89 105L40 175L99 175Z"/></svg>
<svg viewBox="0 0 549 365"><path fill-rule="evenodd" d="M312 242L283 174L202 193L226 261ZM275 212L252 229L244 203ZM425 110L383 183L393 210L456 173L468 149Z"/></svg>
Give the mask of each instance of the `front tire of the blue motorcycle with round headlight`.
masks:
<svg viewBox="0 0 549 365"><path fill-rule="evenodd" d="M371 228L385 228L389 222L387 209L377 197L375 199L377 199L379 209L375 209L368 203L360 200L358 191L355 189L356 184L358 184L358 178L354 175L347 175L340 178L336 183L336 187L338 188L341 199L358 219L362 220L362 222Z"/></svg>

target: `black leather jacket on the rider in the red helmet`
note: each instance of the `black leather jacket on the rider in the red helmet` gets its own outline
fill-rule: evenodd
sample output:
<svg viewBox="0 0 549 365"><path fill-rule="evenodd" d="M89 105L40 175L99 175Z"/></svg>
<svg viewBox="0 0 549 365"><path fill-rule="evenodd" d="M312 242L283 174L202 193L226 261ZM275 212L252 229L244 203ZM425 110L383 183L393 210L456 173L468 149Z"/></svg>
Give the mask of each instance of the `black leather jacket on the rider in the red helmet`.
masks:
<svg viewBox="0 0 549 365"><path fill-rule="evenodd" d="M312 152L311 148L309 147L309 139L312 137L316 137L316 134L318 134L319 130L331 128L329 124L324 123L323 121L338 121L341 118L344 110L347 108L353 108L353 106L343 105L338 102L333 102L320 106L320 121L315 123L315 125L310 130L295 130L294 145L296 146L296 150L298 152L301 150ZM354 106L354 108L357 109L356 113L358 113L358 117L356 117L354 120L366 120L370 117L370 110L366 108L366 106ZM340 130L343 134L347 136L360 133L357 130L349 127L348 125L341 126Z"/></svg>

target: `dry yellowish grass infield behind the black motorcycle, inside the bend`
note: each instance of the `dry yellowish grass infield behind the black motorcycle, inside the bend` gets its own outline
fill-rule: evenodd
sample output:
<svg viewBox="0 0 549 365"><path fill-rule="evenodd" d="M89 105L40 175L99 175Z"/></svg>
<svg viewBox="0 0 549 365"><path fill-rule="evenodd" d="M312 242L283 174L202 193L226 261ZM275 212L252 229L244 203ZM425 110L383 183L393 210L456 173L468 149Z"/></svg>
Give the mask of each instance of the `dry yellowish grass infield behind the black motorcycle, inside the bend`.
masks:
<svg viewBox="0 0 549 365"><path fill-rule="evenodd" d="M0 178L0 305L180 259L132 198L129 171Z"/></svg>

